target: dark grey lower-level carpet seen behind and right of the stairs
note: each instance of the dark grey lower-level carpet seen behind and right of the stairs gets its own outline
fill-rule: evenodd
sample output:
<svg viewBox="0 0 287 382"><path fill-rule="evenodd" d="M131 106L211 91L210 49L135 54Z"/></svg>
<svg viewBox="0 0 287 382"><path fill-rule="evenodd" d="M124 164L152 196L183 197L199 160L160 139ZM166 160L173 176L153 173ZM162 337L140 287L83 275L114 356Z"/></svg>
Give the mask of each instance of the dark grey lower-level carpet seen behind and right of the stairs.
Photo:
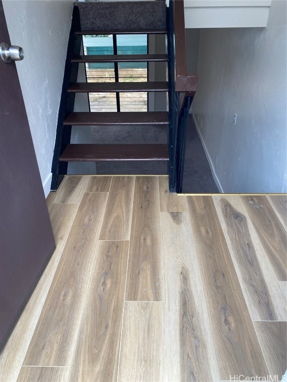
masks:
<svg viewBox="0 0 287 382"><path fill-rule="evenodd" d="M94 126L93 143L166 143L166 128L154 126ZM183 173L184 193L219 192L213 180L209 163L197 134L192 117L186 136L185 167ZM97 174L162 175L167 174L165 162L97 162Z"/></svg>

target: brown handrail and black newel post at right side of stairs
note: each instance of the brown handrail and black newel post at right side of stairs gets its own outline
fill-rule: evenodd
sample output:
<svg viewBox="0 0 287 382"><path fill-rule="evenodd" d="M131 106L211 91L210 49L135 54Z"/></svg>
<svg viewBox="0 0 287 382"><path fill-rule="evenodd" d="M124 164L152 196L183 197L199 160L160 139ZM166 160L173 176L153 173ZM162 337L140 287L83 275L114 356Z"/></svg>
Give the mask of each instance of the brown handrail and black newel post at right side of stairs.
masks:
<svg viewBox="0 0 287 382"><path fill-rule="evenodd" d="M186 127L197 76L186 73L183 0L169 0L168 13L169 191L182 192Z"/></svg>

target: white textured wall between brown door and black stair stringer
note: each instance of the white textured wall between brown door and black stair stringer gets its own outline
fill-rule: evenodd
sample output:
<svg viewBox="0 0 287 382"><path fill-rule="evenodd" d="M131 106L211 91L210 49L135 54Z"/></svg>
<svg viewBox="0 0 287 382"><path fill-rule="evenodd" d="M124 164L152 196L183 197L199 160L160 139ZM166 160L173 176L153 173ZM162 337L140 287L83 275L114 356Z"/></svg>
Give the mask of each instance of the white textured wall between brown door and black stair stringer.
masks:
<svg viewBox="0 0 287 382"><path fill-rule="evenodd" d="M17 72L47 196L73 1L3 0L11 43L23 48Z"/></svg>

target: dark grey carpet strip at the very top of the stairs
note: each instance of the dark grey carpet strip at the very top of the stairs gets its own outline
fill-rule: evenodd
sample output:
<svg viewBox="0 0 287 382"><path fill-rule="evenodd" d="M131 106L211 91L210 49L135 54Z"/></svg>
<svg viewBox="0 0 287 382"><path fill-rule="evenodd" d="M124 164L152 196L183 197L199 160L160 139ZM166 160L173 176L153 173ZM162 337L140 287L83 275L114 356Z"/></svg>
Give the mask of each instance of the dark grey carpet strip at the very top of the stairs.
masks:
<svg viewBox="0 0 287 382"><path fill-rule="evenodd" d="M165 29L165 1L76 2L82 30Z"/></svg>

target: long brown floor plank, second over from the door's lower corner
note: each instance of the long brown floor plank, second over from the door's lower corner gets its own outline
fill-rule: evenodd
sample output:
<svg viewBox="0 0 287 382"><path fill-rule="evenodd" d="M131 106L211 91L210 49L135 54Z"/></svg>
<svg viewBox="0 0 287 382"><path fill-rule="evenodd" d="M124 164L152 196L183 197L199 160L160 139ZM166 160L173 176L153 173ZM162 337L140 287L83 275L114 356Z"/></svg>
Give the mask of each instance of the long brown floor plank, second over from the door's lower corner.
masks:
<svg viewBox="0 0 287 382"><path fill-rule="evenodd" d="M23 364L69 366L107 192L83 195Z"/></svg>

